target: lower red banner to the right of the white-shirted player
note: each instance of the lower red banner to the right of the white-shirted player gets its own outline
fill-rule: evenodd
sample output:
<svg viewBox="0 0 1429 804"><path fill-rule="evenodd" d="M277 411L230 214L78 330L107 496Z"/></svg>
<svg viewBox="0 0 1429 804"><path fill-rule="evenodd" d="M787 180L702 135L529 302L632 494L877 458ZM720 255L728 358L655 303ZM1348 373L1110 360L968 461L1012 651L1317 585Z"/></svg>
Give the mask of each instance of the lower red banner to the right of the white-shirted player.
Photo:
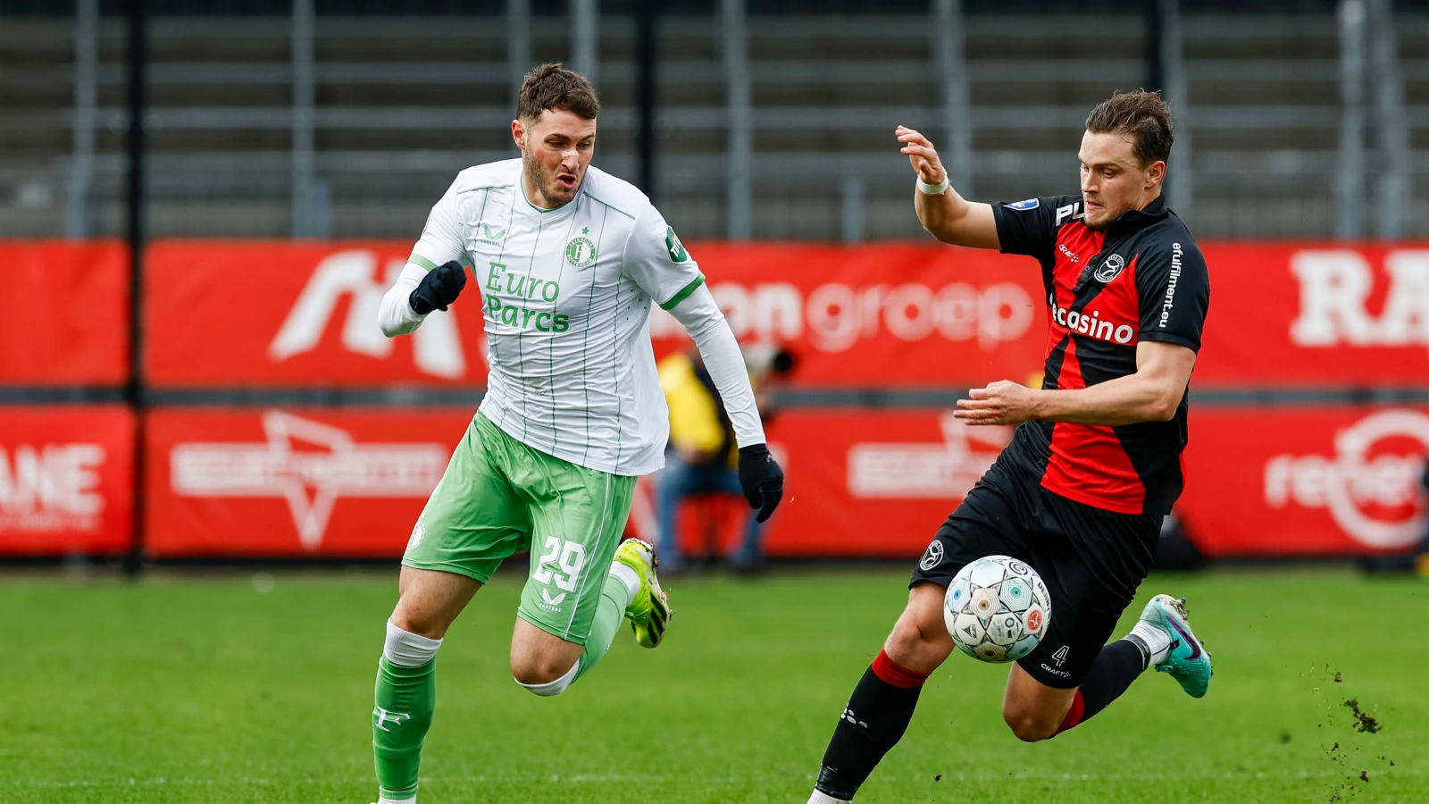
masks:
<svg viewBox="0 0 1429 804"><path fill-rule="evenodd" d="M769 435L787 481L769 554L917 555L1010 436L950 413L780 413ZM1215 557L1405 549L1429 528L1419 486L1426 452L1429 408L1193 408L1176 514ZM696 505L723 519L717 538L727 548L745 509ZM649 535L653 504L643 508L632 525ZM692 508L679 538L699 551L707 534Z"/></svg>

